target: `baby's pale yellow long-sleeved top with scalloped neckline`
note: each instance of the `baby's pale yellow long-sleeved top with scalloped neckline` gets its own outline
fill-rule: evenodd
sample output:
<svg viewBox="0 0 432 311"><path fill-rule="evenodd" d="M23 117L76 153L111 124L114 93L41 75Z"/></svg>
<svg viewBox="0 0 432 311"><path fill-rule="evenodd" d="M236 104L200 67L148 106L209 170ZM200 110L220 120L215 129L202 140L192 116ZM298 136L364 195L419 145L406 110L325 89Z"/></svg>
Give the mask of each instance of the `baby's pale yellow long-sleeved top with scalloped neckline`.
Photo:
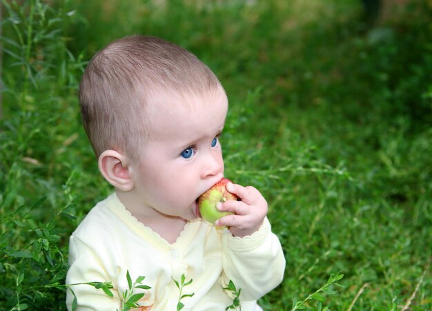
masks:
<svg viewBox="0 0 432 311"><path fill-rule="evenodd" d="M150 290L138 301L141 310L176 310L181 276L192 283L180 299L182 310L225 310L233 295L223 290L232 280L238 289L242 310L254 310L256 300L275 288L283 278L285 259L279 239L268 219L248 237L233 237L196 219L188 222L175 243L137 221L116 194L97 203L70 237L70 269L66 283L112 282L114 297L91 285L72 285L78 310L121 309L121 297L128 290L126 273L132 282L139 276ZM71 309L74 296L68 290ZM148 308L144 308L148 307Z"/></svg>

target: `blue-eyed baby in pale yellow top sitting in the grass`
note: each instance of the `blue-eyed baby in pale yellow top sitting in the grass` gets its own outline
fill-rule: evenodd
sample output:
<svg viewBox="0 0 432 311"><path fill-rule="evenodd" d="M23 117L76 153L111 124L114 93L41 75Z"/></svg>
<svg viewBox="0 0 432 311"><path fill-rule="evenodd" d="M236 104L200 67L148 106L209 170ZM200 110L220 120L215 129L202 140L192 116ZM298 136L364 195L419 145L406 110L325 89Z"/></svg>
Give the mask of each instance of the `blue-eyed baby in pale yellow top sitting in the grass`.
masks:
<svg viewBox="0 0 432 311"><path fill-rule="evenodd" d="M238 303L262 310L257 299L281 283L285 269L266 200L253 187L228 183L242 201L219 204L235 214L216 225L197 206L224 177L219 136L228 99L215 74L173 43L135 35L93 57L79 101L99 170L115 191L70 237L66 283L111 282L113 297L71 285L68 308L76 297L78 310L121 310L125 293L141 293L139 310ZM131 293L130 281L141 276L147 286Z"/></svg>

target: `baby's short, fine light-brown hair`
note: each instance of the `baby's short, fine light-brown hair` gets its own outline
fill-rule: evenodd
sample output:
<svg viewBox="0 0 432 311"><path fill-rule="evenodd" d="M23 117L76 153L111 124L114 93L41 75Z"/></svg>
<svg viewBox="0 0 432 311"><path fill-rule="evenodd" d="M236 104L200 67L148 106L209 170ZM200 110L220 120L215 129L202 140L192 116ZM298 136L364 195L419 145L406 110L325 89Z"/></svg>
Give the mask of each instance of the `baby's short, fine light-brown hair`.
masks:
<svg viewBox="0 0 432 311"><path fill-rule="evenodd" d="M113 41L95 54L79 86L81 117L96 157L113 149L137 158L150 134L145 107L155 90L204 94L219 88L202 61L173 43L141 35Z"/></svg>

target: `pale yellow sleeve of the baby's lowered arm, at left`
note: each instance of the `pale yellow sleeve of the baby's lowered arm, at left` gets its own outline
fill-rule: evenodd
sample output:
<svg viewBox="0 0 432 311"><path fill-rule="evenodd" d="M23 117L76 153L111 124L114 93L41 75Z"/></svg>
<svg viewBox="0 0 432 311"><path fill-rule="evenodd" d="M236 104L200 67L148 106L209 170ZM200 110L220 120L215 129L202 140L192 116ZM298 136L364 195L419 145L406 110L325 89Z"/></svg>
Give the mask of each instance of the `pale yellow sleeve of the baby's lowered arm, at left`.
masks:
<svg viewBox="0 0 432 311"><path fill-rule="evenodd" d="M77 310L79 311L112 311L120 308L120 299L115 284L112 284L114 288L111 289L114 297L109 297L103 290L92 285L79 284L89 281L106 282L111 279L94 250L74 235L70 237L69 263L70 268L66 276L66 284L70 285L66 293L68 310L72 310L72 302L75 297L77 297Z"/></svg>

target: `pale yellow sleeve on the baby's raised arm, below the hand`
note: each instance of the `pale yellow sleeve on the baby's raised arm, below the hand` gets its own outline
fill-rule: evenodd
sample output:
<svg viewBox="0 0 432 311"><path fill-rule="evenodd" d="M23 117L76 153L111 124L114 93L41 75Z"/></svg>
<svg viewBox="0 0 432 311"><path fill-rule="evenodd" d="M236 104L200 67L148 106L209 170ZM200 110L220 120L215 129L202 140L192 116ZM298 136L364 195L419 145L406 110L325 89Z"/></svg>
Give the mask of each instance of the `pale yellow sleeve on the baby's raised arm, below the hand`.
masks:
<svg viewBox="0 0 432 311"><path fill-rule="evenodd" d="M226 230L222 241L222 285L226 287L233 281L237 290L242 290L240 301L257 300L282 282L286 261L267 217L251 236L233 237Z"/></svg>

